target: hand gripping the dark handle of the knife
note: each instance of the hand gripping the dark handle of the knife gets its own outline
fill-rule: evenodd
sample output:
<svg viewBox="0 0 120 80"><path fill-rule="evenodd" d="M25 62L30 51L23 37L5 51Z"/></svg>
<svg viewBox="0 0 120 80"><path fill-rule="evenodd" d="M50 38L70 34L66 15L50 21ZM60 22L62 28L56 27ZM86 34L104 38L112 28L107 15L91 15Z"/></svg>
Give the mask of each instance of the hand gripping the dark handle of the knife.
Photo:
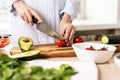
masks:
<svg viewBox="0 0 120 80"><path fill-rule="evenodd" d="M26 23L33 25L32 16L34 16L39 22L42 22L39 14L32 7L26 5L23 1L13 3L13 7Z"/></svg>

